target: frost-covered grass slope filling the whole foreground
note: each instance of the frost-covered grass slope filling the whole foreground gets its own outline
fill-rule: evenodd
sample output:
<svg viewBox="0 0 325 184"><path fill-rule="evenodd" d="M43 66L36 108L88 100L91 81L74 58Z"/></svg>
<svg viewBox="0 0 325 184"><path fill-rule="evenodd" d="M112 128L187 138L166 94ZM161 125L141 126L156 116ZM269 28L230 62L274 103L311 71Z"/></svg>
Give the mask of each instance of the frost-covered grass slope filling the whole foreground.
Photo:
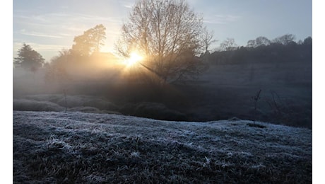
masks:
<svg viewBox="0 0 325 184"><path fill-rule="evenodd" d="M312 130L13 111L13 183L312 183Z"/></svg>

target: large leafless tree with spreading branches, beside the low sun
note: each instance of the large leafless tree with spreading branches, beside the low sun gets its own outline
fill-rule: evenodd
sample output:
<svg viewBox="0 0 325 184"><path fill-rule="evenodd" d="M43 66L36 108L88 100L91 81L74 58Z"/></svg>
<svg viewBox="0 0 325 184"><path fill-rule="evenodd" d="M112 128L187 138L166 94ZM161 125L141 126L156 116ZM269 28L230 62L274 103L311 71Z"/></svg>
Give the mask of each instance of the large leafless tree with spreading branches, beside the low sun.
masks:
<svg viewBox="0 0 325 184"><path fill-rule="evenodd" d="M115 47L124 57L143 54L141 65L170 82L199 73L203 30L203 19L184 0L141 0Z"/></svg>

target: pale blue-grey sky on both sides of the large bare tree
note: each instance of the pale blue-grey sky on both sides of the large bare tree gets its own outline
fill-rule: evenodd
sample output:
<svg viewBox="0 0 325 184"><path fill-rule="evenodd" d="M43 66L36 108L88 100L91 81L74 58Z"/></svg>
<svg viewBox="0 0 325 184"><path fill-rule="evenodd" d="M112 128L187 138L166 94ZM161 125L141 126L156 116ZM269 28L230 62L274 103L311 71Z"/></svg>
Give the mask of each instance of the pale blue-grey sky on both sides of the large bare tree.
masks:
<svg viewBox="0 0 325 184"><path fill-rule="evenodd" d="M13 56L23 42L49 61L70 49L73 38L103 24L107 40L102 51L114 50L122 23L135 0L13 1ZM273 40L291 33L297 40L312 36L311 0L188 0L204 24L214 31L218 47L226 38L246 46L259 36ZM297 41L296 40L296 41ZM213 49L213 48L211 48Z"/></svg>

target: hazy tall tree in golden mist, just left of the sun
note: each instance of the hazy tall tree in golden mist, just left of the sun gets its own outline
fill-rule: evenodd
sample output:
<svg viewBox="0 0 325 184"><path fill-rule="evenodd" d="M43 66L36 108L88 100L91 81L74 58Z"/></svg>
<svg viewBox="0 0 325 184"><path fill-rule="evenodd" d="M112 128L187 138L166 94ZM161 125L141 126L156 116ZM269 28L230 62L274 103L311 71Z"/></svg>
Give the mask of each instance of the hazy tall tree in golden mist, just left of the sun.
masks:
<svg viewBox="0 0 325 184"><path fill-rule="evenodd" d="M99 52L100 47L104 45L103 41L106 39L106 28L104 25L96 25L83 32L83 35L78 35L73 39L75 42L72 45L72 51L81 56L90 56L93 52Z"/></svg>

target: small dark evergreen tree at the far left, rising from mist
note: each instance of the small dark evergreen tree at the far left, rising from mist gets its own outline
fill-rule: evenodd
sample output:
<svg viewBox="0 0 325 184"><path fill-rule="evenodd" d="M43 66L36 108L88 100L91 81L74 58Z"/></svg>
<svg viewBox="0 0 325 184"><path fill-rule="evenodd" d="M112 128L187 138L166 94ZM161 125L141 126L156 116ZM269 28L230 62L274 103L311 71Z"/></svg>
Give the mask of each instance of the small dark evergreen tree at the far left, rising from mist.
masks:
<svg viewBox="0 0 325 184"><path fill-rule="evenodd" d="M32 50L30 45L23 43L23 47L18 50L18 57L14 58L14 66L22 67L23 69L36 72L45 63L42 55L35 50Z"/></svg>

